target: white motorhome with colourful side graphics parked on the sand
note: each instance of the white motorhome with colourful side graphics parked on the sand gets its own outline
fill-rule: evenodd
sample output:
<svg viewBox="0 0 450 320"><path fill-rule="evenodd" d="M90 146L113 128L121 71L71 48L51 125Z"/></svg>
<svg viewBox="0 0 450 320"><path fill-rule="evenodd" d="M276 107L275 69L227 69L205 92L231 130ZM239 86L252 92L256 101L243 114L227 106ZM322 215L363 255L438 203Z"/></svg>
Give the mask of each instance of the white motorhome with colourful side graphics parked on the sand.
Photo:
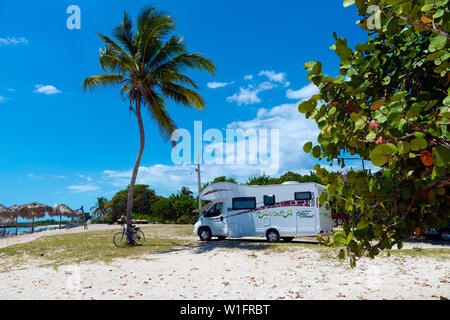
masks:
<svg viewBox="0 0 450 320"><path fill-rule="evenodd" d="M200 199L211 203L195 224L194 234L203 241L262 236L270 242L330 234L331 211L317 200L324 189L317 183L215 183L200 193Z"/></svg>

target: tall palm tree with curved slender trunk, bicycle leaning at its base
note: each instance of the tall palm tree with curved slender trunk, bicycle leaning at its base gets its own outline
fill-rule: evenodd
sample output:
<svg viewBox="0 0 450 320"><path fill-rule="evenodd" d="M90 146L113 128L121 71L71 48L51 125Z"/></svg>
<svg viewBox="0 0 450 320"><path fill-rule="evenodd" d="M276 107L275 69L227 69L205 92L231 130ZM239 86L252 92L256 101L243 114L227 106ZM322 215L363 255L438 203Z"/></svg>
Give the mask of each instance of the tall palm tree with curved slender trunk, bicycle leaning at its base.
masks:
<svg viewBox="0 0 450 320"><path fill-rule="evenodd" d="M140 148L136 159L127 198L127 230L131 232L133 193L139 165L145 145L141 107L148 110L155 120L159 132L168 141L176 129L171 119L166 98L185 107L203 109L203 98L193 89L198 89L193 80L184 75L185 70L204 70L215 73L216 67L200 54L188 53L183 38L170 36L175 29L173 19L157 10L148 8L138 16L137 28L124 13L122 24L113 29L114 40L98 34L105 48L100 50L100 65L105 72L86 78L83 89L92 92L99 87L121 85L120 93L128 101L130 112L136 115ZM131 233L129 233L131 234Z"/></svg>

